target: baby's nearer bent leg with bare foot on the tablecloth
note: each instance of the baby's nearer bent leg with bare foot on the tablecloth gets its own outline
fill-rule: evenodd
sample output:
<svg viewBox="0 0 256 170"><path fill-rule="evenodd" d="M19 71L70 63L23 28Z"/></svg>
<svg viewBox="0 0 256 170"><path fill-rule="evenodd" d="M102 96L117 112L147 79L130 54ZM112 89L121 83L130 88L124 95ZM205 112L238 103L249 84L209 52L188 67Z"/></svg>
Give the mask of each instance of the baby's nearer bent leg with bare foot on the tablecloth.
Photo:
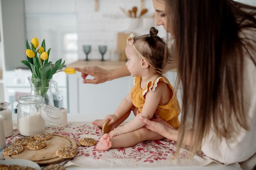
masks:
<svg viewBox="0 0 256 170"><path fill-rule="evenodd" d="M103 138L103 137L101 137L101 138ZM104 138L106 138L106 136ZM148 130L145 127L142 127L133 132L125 133L125 134L118 135L118 136L115 136L112 138L107 137L105 140L100 139L99 143L96 146L96 149L97 150L98 149L99 150L108 150L109 148L111 148L111 149L113 149L113 148L128 148L128 147L135 146L136 144L138 144L141 141L146 141L146 140L153 141L153 140L159 140L159 139L163 139L163 138L164 137L162 135L159 135L156 132L153 132L151 130ZM106 141L108 142L107 145L106 145ZM99 145L99 147L98 147L98 145ZM105 145L107 147L102 147L103 145Z"/></svg>

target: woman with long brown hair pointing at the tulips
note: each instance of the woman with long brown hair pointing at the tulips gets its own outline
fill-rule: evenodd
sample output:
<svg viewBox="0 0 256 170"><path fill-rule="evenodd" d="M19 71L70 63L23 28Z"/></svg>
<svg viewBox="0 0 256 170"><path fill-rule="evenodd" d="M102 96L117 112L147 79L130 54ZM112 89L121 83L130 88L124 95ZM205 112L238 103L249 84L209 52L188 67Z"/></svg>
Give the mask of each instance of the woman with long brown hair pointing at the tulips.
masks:
<svg viewBox="0 0 256 170"><path fill-rule="evenodd" d="M256 162L256 8L232 0L153 0L155 24L175 39L168 69L182 84L179 130L161 118L146 128L193 146L220 163ZM129 75L126 66L79 69L84 83ZM86 79L87 75L94 79ZM188 123L193 122L189 131Z"/></svg>

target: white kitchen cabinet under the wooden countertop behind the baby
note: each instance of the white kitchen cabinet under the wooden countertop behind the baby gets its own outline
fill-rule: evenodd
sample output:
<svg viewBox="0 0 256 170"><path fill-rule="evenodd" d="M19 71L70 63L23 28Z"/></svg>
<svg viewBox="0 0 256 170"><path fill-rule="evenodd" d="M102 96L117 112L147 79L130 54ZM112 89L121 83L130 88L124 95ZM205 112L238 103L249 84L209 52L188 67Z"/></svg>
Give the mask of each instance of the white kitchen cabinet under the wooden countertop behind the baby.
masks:
<svg viewBox="0 0 256 170"><path fill-rule="evenodd" d="M174 86L177 73L169 71L165 76ZM92 79L93 77L89 77ZM122 77L102 84L83 84L80 73L68 75L69 113L99 115L103 119L114 113L133 86L134 77ZM180 89L178 99L181 101ZM181 104L180 104L181 105Z"/></svg>

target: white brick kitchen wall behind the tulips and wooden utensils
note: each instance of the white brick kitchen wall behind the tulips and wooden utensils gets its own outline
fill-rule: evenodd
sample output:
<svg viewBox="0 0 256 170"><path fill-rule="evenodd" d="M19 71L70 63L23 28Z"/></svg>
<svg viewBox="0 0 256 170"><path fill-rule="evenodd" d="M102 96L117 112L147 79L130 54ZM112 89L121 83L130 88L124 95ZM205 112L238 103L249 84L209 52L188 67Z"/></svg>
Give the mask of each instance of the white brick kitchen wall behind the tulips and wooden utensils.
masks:
<svg viewBox="0 0 256 170"><path fill-rule="evenodd" d="M70 26L70 28L67 29L76 29L78 33L78 58L85 59L82 46L90 44L92 45L92 52L89 54L90 59L101 58L98 51L98 45L108 46L108 52L105 54L104 58L109 59L110 51L116 50L117 48L118 32L136 32L138 34L144 34L149 31L149 28L142 28L142 23L140 23L140 26L137 29L128 29L128 18L119 7L123 7L128 11L128 9L132 9L134 6L138 7L137 13L140 13L139 0L99 0L98 11L94 11L94 0L25 0L26 16L30 18L30 23L27 24L27 32L29 32L27 38L29 40L33 36L38 36L39 39L45 38L47 46L52 47L52 54L55 54L59 56L57 58L60 58L63 54L55 53L54 50L58 47L56 44L49 41L50 38L55 39L57 36L56 34L58 33L58 30L53 27L56 23L48 23L47 26L43 25L45 25L47 20L50 20L46 16L53 18L54 16L67 15L74 20L70 24L75 24L75 26L73 25L75 28ZM153 15L154 8L151 0L144 0L144 8L148 9L146 15ZM36 20L36 16L39 15L45 15L46 18L46 21L40 28L38 28L38 20ZM31 19L32 17L34 17L34 20ZM51 21L54 22L53 19L51 19ZM62 22L65 22L65 19L63 19ZM142 18L140 19L140 22L142 22ZM32 27L28 28L28 25L35 25L36 29ZM38 32L43 32L43 30L46 29L45 27L47 27L47 29L49 29L49 27L52 29L52 35L47 35L46 33L38 35ZM158 29L160 32L159 35L165 36L162 27L158 27Z"/></svg>

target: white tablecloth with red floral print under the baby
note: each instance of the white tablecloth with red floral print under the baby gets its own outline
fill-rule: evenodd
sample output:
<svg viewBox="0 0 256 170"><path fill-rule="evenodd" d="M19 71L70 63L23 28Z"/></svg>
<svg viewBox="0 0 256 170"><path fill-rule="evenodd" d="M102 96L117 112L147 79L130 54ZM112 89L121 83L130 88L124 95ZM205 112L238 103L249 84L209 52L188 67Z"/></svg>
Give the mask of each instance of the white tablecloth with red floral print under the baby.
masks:
<svg viewBox="0 0 256 170"><path fill-rule="evenodd" d="M7 145L20 137L17 124L14 124L14 135L8 137ZM91 137L99 140L103 135L101 128L91 122L71 122L64 128L49 127L46 131L65 135L79 143L79 139ZM182 148L174 158L176 142L168 139L144 141L131 148L97 151L95 146L77 146L79 153L65 163L65 166L82 166L86 168L141 168L167 166L205 166L212 162L202 151L192 157L189 148Z"/></svg>

